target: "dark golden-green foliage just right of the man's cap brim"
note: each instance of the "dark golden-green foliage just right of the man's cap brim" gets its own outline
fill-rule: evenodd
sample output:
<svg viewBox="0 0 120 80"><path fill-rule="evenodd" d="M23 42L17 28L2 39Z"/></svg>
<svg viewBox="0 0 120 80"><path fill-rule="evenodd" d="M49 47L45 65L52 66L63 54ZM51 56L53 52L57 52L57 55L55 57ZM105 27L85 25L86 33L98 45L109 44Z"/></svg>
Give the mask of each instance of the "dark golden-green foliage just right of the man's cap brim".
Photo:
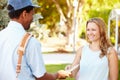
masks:
<svg viewBox="0 0 120 80"><path fill-rule="evenodd" d="M36 12L40 12L44 19L40 20L42 24L52 25L53 23L59 21L59 14L57 12L56 6L52 1L38 0L40 9L36 9Z"/></svg>

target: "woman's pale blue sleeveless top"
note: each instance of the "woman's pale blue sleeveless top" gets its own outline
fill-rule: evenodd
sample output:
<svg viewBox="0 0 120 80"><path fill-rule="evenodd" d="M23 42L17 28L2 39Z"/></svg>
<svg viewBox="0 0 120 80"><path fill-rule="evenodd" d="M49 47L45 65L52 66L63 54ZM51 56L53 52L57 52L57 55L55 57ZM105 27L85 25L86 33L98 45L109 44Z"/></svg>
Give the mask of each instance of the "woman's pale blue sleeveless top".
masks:
<svg viewBox="0 0 120 80"><path fill-rule="evenodd" d="M106 56L100 58L100 53L92 51L89 45L83 47L78 80L108 80L108 59Z"/></svg>

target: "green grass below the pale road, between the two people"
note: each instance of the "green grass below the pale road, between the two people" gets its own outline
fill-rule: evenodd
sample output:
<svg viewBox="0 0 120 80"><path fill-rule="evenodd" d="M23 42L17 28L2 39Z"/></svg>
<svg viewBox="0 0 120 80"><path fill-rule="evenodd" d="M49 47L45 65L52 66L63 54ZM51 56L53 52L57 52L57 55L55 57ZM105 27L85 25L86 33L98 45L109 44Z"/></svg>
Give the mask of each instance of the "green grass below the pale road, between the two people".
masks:
<svg viewBox="0 0 120 80"><path fill-rule="evenodd" d="M46 65L46 69L47 69L47 71L50 72L50 73L55 73L55 72L57 72L57 71L60 70L60 69L64 69L66 65L67 65L67 64ZM65 79L65 80L74 80L74 79L73 79L73 78L67 78L67 79ZM120 60L119 60L119 78L118 78L118 80L120 80Z"/></svg>

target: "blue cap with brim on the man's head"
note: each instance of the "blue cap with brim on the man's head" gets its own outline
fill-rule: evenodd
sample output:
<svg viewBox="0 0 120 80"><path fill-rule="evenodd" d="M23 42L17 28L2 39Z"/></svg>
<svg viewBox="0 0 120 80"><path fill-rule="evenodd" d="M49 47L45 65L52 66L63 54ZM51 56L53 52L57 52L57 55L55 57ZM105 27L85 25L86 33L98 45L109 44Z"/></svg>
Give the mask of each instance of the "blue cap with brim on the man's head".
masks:
<svg viewBox="0 0 120 80"><path fill-rule="evenodd" d="M8 5L11 5L14 10L19 10L27 6L40 7L38 5L33 5L31 0L8 0Z"/></svg>

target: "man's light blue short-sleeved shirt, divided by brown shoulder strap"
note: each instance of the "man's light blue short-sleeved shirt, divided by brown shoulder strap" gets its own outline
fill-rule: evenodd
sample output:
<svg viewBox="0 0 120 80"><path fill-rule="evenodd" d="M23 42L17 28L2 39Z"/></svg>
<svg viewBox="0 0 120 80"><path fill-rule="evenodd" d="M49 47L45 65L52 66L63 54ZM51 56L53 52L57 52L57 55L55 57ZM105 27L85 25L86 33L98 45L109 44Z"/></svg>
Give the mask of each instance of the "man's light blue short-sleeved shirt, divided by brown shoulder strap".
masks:
<svg viewBox="0 0 120 80"><path fill-rule="evenodd" d="M17 48L25 32L15 21L10 21L8 27L0 32L0 80L16 80ZM18 80L35 80L34 76L41 77L45 72L41 45L31 37L22 58Z"/></svg>

